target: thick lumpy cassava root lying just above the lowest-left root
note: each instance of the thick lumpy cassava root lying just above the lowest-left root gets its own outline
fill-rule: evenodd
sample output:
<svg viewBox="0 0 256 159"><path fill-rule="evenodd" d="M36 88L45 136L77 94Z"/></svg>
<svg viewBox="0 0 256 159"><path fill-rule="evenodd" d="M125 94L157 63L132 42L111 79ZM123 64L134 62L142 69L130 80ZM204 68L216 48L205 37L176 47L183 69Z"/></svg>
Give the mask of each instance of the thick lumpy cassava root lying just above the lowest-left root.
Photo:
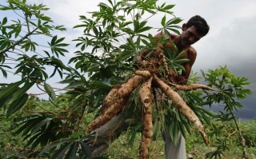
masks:
<svg viewBox="0 0 256 159"><path fill-rule="evenodd" d="M110 93L106 95L105 100L102 103L102 113L104 113L106 109L108 109L110 105L113 105L118 99L128 97L140 84L142 79L142 76L135 75L122 85L114 86L114 88L110 90Z"/></svg>

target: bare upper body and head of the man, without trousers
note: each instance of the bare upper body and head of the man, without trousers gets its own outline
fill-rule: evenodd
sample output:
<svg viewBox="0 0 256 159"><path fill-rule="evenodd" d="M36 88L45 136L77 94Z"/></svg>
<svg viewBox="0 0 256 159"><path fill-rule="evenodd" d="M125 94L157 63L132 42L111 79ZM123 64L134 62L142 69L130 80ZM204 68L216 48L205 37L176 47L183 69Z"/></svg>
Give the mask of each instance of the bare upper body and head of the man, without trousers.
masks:
<svg viewBox="0 0 256 159"><path fill-rule="evenodd" d="M200 38L205 36L208 33L209 29L210 28L207 25L205 19L203 19L199 15L196 15L190 18L187 23L184 23L182 25L181 35L170 35L170 41L174 42L175 46L177 46L178 53L186 50L186 54L182 58L187 58L190 60L189 62L182 64L185 68L185 71L183 71L182 74L174 74L174 71L169 69L170 76L174 77L179 83L186 84L187 79L190 76L191 68L197 56L197 51L194 50L194 47L192 47L191 45L195 42L198 42ZM166 36L166 34L157 34L155 36L156 40L158 40L158 38L160 38L161 36ZM170 44L167 44L164 47L173 50ZM146 57L146 54L148 54L148 52L148 50L142 51L142 53L138 55L137 61L142 61L143 58Z"/></svg>

